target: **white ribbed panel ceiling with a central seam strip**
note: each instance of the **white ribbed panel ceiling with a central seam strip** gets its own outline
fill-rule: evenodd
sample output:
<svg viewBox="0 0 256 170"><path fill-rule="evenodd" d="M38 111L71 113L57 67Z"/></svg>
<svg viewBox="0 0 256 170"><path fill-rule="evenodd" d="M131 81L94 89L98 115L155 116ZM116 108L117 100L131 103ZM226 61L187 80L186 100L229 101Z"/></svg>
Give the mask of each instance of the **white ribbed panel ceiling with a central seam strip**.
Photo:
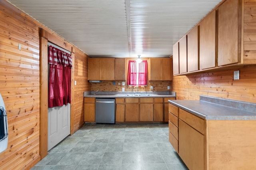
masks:
<svg viewBox="0 0 256 170"><path fill-rule="evenodd" d="M90 57L169 57L222 0L9 0Z"/></svg>

